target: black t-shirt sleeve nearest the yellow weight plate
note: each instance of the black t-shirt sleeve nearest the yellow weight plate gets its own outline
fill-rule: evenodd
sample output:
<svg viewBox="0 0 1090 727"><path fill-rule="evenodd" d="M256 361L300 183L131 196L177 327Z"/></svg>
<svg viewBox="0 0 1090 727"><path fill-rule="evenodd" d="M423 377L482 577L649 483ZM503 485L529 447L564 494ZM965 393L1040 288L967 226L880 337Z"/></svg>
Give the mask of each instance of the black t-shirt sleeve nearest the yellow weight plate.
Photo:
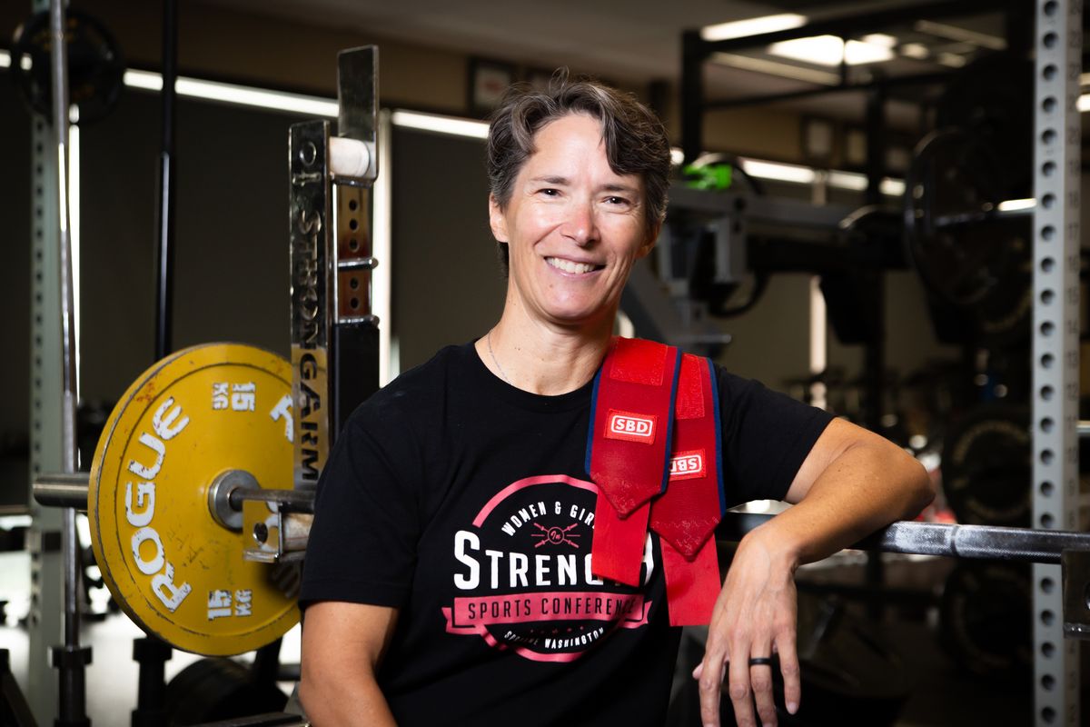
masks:
<svg viewBox="0 0 1090 727"><path fill-rule="evenodd" d="M400 607L420 536L414 439L367 402L349 420L318 481L300 607L347 601Z"/></svg>

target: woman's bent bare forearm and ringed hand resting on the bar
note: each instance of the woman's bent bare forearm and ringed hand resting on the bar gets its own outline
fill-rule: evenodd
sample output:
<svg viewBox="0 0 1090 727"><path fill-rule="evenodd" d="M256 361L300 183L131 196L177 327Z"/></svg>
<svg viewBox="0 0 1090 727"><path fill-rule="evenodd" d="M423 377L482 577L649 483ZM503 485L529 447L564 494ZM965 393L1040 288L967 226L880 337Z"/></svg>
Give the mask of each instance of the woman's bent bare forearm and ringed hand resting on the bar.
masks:
<svg viewBox="0 0 1090 727"><path fill-rule="evenodd" d="M788 712L801 698L796 653L795 570L888 523L916 517L934 497L927 472L903 449L861 427L833 420L787 492L795 507L738 544L708 628L700 680L701 718L719 724L724 671L739 727L776 724L772 668L752 657L779 655ZM752 698L750 696L752 694Z"/></svg>

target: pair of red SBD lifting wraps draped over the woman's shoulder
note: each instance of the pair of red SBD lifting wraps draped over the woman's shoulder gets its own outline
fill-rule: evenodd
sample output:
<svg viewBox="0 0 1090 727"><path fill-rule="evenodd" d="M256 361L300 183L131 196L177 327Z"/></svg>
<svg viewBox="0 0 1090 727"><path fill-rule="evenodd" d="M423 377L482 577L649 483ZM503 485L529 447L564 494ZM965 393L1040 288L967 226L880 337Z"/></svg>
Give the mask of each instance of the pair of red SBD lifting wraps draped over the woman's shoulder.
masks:
<svg viewBox="0 0 1090 727"><path fill-rule="evenodd" d="M650 518L675 626L707 623L719 591L711 537L723 512L714 375L706 359L617 338L594 387L588 472L603 495L594 573L638 585Z"/></svg>

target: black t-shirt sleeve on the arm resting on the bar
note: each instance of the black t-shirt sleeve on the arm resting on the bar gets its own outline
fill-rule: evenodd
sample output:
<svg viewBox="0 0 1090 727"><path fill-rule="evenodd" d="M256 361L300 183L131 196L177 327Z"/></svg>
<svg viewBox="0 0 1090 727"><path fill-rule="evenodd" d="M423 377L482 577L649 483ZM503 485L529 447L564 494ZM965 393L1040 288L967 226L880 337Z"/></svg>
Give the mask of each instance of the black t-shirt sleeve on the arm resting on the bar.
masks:
<svg viewBox="0 0 1090 727"><path fill-rule="evenodd" d="M833 416L760 381L717 373L727 507L784 499Z"/></svg>

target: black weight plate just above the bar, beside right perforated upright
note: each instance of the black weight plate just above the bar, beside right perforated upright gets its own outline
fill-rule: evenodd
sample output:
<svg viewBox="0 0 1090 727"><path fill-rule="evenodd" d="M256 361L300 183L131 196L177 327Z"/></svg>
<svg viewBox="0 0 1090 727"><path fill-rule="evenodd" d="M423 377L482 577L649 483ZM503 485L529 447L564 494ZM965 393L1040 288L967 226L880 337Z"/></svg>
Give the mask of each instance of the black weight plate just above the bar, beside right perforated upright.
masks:
<svg viewBox="0 0 1090 727"><path fill-rule="evenodd" d="M943 494L957 521L1026 528L1032 478L1029 412L979 407L943 439Z"/></svg>

